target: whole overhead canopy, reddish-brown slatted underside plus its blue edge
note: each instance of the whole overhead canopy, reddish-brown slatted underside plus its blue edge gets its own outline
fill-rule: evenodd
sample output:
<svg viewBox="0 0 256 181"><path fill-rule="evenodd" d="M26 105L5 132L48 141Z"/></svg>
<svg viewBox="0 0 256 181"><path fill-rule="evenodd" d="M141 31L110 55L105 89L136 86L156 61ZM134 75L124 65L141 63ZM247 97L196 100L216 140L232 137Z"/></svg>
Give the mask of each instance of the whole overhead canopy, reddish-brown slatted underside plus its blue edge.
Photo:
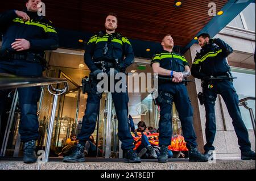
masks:
<svg viewBox="0 0 256 181"><path fill-rule="evenodd" d="M216 35L253 0L201 1L183 0L175 7L174 0L72 0L46 3L46 16L60 34L60 47L83 49L79 39L88 41L93 33L104 30L106 15L118 15L118 29L130 39L135 56L151 58L161 49L160 41L166 34L174 38L176 48L184 53L201 32ZM8 9L22 10L26 1L1 2L0 12ZM209 3L216 4L216 12L222 15L209 16ZM147 52L146 49L150 49Z"/></svg>

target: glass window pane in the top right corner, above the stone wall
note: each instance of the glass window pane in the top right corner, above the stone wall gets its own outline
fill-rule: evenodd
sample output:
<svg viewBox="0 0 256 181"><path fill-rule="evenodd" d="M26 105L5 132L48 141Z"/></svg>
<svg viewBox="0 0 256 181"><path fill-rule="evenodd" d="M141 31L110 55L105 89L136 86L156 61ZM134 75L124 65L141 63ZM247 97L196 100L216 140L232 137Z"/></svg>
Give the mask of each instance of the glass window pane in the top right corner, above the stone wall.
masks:
<svg viewBox="0 0 256 181"><path fill-rule="evenodd" d="M245 17L248 30L255 31L255 3L250 3L250 5L242 11L242 14Z"/></svg>

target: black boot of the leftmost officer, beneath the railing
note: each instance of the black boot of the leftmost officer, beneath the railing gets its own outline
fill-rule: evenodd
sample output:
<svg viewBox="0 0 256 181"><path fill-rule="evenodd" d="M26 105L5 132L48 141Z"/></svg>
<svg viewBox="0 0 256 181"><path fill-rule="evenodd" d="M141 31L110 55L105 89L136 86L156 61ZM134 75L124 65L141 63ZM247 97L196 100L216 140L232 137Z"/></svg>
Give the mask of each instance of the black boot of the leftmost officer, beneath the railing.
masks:
<svg viewBox="0 0 256 181"><path fill-rule="evenodd" d="M24 163L35 163L36 162L35 142L36 142L35 140L24 142L24 147L23 147L23 162Z"/></svg>

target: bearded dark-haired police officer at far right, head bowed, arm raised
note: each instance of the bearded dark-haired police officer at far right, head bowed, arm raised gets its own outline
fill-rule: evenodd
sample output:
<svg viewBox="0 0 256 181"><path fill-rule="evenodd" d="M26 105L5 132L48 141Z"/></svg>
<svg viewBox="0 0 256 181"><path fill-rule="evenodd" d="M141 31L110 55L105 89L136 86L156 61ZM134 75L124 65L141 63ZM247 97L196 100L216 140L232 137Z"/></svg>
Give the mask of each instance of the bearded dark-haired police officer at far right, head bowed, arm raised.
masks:
<svg viewBox="0 0 256 181"><path fill-rule="evenodd" d="M201 79L203 87L207 139L207 144L204 145L205 154L214 150L212 145L216 133L214 106L217 95L220 94L233 120L241 149L241 159L255 159L255 153L251 151L248 132L238 107L238 95L232 83L230 67L226 61L226 57L233 52L233 49L221 39L210 39L208 33L202 33L197 38L202 49L196 54L191 73L194 77ZM218 80L210 80L210 78L218 78Z"/></svg>

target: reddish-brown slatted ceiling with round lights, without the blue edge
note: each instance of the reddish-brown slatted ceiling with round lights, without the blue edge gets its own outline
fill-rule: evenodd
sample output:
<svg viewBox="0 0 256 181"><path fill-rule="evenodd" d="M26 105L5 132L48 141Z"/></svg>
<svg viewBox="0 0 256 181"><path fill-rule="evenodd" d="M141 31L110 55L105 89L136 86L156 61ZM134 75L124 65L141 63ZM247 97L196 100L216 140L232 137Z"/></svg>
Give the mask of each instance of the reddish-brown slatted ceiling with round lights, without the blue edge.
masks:
<svg viewBox="0 0 256 181"><path fill-rule="evenodd" d="M0 12L22 10L26 1L1 2ZM49 1L46 16L57 28L82 32L104 30L106 14L118 15L118 30L130 39L159 42L170 33L175 45L185 47L205 27L213 16L208 15L208 3L216 3L217 12L228 2L187 0L181 7L174 7L174 0L119 0L119 1Z"/></svg>

